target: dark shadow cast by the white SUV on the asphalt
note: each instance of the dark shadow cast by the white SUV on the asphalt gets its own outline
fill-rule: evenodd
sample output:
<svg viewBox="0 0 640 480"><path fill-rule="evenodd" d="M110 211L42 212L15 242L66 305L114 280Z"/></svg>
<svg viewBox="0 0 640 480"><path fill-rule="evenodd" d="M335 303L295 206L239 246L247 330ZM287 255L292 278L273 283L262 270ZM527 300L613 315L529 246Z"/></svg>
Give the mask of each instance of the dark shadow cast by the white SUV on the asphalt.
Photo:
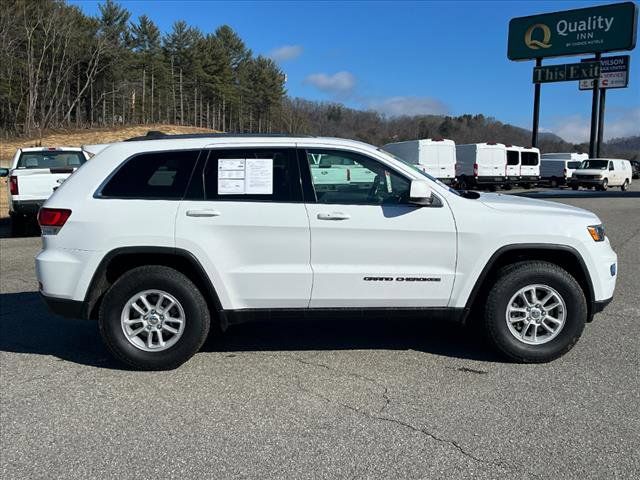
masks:
<svg viewBox="0 0 640 480"><path fill-rule="evenodd" d="M201 349L307 350L416 350L468 360L504 361L471 328L415 318L264 320L233 325L222 335L211 335ZM103 346L96 322L49 313L37 292L0 294L0 351L124 369Z"/></svg>

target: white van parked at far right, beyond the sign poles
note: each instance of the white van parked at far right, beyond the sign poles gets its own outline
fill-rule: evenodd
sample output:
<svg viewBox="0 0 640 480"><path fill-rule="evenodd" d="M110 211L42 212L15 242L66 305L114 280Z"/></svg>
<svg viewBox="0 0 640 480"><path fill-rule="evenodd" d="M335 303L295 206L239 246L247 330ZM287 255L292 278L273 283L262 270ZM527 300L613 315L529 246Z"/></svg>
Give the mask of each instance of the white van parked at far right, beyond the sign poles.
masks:
<svg viewBox="0 0 640 480"><path fill-rule="evenodd" d="M620 187L624 192L629 189L633 170L629 160L617 158L590 158L573 172L571 188L593 187L606 190L609 187Z"/></svg>

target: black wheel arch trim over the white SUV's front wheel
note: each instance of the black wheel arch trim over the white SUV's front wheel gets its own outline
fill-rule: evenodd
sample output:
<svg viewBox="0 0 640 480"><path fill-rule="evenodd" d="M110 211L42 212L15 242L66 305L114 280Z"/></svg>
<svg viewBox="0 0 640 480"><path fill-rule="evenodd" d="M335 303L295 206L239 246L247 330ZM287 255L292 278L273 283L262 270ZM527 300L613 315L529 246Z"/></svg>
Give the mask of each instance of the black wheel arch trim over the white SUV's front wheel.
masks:
<svg viewBox="0 0 640 480"><path fill-rule="evenodd" d="M533 243L505 245L491 255L467 298L462 322L466 323L469 314L481 308L482 293L487 293L491 285L495 283L501 268L515 262L527 260L547 261L569 272L582 287L587 299L587 321L590 322L592 320L595 313L595 293L589 270L580 252L568 245Z"/></svg>

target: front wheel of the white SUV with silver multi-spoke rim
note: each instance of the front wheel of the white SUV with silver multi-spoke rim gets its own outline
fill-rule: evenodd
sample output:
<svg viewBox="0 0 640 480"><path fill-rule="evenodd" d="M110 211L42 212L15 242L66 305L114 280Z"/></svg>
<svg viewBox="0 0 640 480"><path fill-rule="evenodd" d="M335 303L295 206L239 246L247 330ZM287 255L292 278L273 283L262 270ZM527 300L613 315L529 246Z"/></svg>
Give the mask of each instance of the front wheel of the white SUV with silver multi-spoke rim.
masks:
<svg viewBox="0 0 640 480"><path fill-rule="evenodd" d="M485 309L489 340L523 363L549 362L567 353L587 319L582 287L567 271L541 261L504 268Z"/></svg>

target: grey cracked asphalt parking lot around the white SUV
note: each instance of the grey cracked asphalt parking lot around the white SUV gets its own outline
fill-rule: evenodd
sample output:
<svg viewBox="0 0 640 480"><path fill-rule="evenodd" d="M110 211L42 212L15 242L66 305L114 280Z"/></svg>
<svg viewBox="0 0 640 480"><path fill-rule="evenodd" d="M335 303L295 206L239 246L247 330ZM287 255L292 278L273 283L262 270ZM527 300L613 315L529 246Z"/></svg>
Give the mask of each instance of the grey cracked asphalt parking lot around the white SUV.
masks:
<svg viewBox="0 0 640 480"><path fill-rule="evenodd" d="M14 478L638 478L640 181L530 191L594 211L613 303L565 357L504 362L455 325L232 327L172 372L112 361L50 315L38 237L0 239L0 475Z"/></svg>

